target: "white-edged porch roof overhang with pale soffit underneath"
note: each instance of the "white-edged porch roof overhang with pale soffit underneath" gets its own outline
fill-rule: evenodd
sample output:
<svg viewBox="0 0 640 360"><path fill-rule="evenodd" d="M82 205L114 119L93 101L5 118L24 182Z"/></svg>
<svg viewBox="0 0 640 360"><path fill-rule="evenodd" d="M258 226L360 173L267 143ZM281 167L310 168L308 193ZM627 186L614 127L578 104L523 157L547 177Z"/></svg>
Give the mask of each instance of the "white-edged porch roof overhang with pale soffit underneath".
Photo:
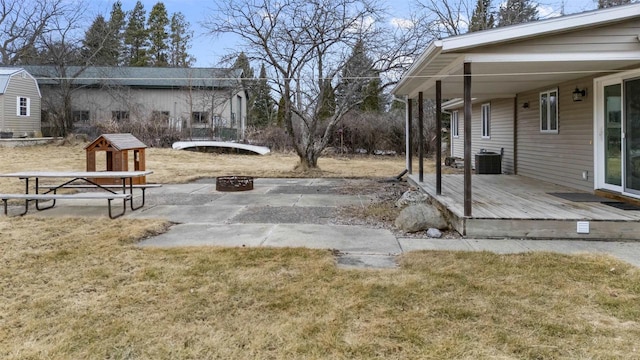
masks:
<svg viewBox="0 0 640 360"><path fill-rule="evenodd" d="M599 28L640 19L640 3L588 11L547 20L468 33L433 41L392 90L395 95L434 96L435 83L442 80L443 97L462 97L463 64L471 63L472 91L477 97L512 97L526 89L607 72L640 63L638 35L635 50L608 50L605 46L581 51L511 45L527 45L542 38ZM541 51L542 50L542 51Z"/></svg>

